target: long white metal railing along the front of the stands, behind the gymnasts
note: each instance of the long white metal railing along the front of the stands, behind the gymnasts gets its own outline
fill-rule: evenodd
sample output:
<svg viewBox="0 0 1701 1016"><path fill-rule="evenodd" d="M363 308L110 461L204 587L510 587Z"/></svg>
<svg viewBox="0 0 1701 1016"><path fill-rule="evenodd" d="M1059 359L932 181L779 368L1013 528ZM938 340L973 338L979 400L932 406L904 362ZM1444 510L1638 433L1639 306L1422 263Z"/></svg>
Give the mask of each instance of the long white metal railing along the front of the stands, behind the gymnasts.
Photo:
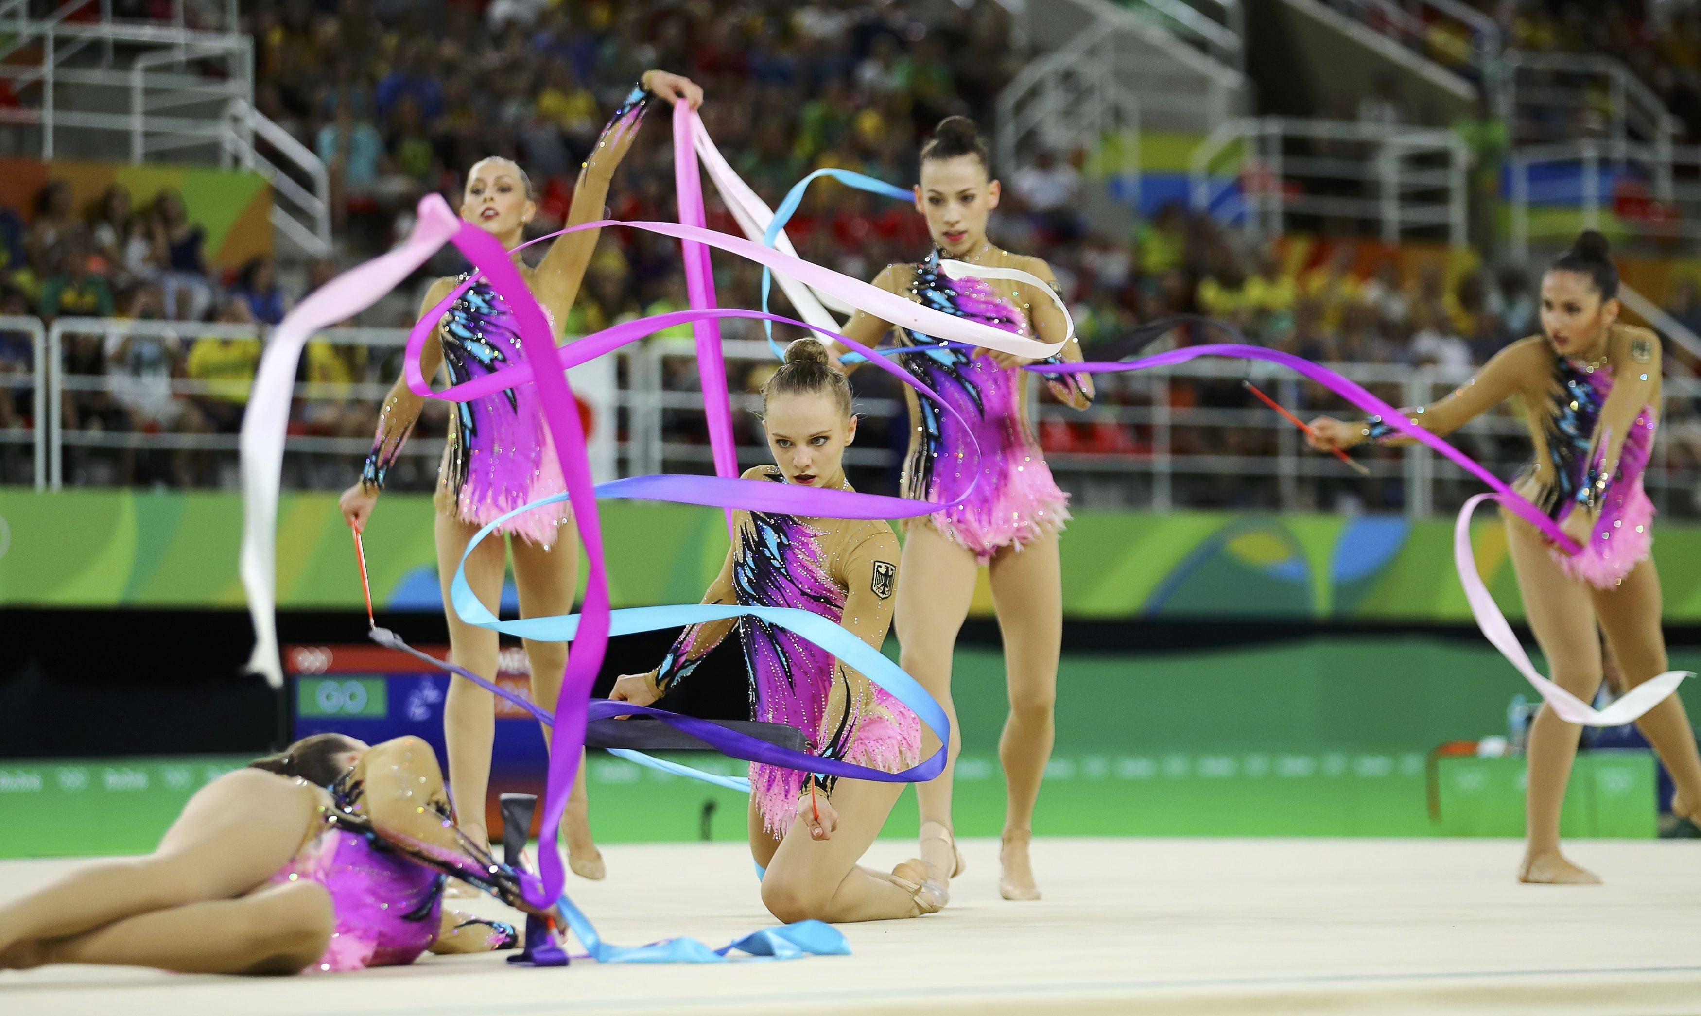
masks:
<svg viewBox="0 0 1701 1016"><path fill-rule="evenodd" d="M70 374L63 369L65 351L78 340L105 347L117 337L153 340L192 340L196 337L257 337L253 328L231 325L182 325L175 322L119 322L102 318L61 318L46 334L48 362L54 364L46 380L48 405L43 410L51 427L37 427L34 441L48 434L44 453L49 463L48 485L100 485L99 471L87 477L66 470L66 456L119 456L148 451L153 454L221 456L225 468L214 470L218 482L235 483L236 436L192 429L129 429L122 432L66 427L66 403L99 395L114 400L139 400L150 393L114 374ZM371 448L371 420L388 393L396 373L405 334L391 328L332 328L315 339L333 347L362 349L367 369L352 381L298 383L301 412L286 444L286 483L294 487L342 487L350 482L361 458ZM764 342L728 340L723 344L728 364L772 362ZM379 354L379 356L371 356ZM670 368L694 361L689 339L655 339L621 351L609 385L612 407L612 468L621 475L660 471L703 471L711 461L703 439L703 397L694 383L680 378L668 385ZM41 362L41 361L37 361ZM1368 386L1397 405L1425 405L1470 376L1470 371L1410 368L1403 364L1328 364L1344 376ZM689 371L684 371L689 374ZM735 374L737 376L737 374ZM1301 415L1328 414L1351 417L1332 397L1269 364L1232 361L1194 361L1136 374L1097 378L1099 398L1087 412L1036 400L1036 431L1046 459L1060 483L1082 504L1150 507L1167 511L1179 505L1272 507L1283 511L1400 507L1420 517L1456 509L1480 490L1480 482L1439 459L1424 448L1376 448L1356 453L1369 468L1369 477L1345 471L1328 456L1306 451L1298 432L1257 403L1243 403L1240 381L1257 380L1266 390ZM151 398L192 400L225 395L218 381L194 381L155 376ZM864 425L885 420L895 425L893 437L907 434L905 407L893 391L868 388L879 385L876 374L857 374L857 410ZM747 434L760 434L759 395L735 385L733 407L752 414L738 420ZM37 388L41 391L41 388ZM1660 511L1701 512L1701 381L1669 376L1664 383L1660 431L1645 485ZM1243 403L1243 405L1242 405ZM39 397L37 397L39 405ZM359 420L342 432L313 434L320 414L316 405L354 407ZM441 415L441 410L437 410ZM441 420L430 424L441 425ZM1476 461L1500 477L1514 475L1529 456L1526 424L1510 407L1500 407L1449 437ZM398 487L430 488L435 482L435 456L442 441L413 437L403 449L408 466L398 466ZM37 453L43 454L43 453ZM767 449L748 442L738 449L742 465L769 461ZM896 473L900 451L862 441L847 453L847 465L862 470ZM291 465L294 463L294 465ZM116 482L107 475L107 483Z"/></svg>

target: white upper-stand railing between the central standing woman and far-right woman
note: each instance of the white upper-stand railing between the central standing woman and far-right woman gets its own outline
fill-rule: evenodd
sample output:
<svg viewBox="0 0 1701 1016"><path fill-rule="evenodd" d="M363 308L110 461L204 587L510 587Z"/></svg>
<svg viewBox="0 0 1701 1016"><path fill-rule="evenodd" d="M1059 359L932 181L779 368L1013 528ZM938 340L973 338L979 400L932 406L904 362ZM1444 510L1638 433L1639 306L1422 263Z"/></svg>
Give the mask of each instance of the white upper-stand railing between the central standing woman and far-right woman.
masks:
<svg viewBox="0 0 1701 1016"><path fill-rule="evenodd" d="M1470 151L1453 131L1300 117L1228 121L1194 150L1191 203L1250 233L1320 220L1466 242Z"/></svg>

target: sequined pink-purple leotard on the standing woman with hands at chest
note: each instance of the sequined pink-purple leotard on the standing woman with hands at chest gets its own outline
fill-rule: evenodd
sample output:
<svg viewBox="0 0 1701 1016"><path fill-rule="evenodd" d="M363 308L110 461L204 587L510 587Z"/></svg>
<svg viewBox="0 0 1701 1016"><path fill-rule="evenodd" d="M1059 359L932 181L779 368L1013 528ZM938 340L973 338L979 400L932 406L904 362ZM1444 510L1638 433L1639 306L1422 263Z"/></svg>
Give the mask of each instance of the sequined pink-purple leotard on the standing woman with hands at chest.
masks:
<svg viewBox="0 0 1701 1016"><path fill-rule="evenodd" d="M985 322L995 328L1033 335L1033 323L1021 289L1005 283L975 277L951 279L941 274L942 254L934 250L913 265L910 296L925 306L951 315ZM932 347L900 356L910 374L934 388L966 420L942 412L930 398L905 388L910 407L910 451L905 458L902 488L905 497L922 500L956 500L976 475L973 442L980 446L980 482L970 500L929 516L932 526L958 545L971 550L980 562L992 560L1000 546L1021 548L1068 522L1068 495L1058 490L1051 468L1039 451L1027 420L1029 376L1000 368L987 352L939 349L927 335L898 328L903 345ZM1046 362L1061 362L1060 356ZM1050 380L1053 391L1077 407L1085 405L1084 385L1073 374Z"/></svg>

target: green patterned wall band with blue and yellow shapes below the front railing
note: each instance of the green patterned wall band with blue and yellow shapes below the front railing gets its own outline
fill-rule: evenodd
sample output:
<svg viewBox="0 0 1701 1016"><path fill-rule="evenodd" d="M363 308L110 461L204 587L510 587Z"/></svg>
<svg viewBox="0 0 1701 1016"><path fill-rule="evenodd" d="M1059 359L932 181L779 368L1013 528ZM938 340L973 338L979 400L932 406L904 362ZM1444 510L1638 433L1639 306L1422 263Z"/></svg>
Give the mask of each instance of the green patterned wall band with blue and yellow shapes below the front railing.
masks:
<svg viewBox="0 0 1701 1016"><path fill-rule="evenodd" d="M1505 533L1482 514L1476 565L1519 616ZM696 602L726 553L713 511L602 505L614 606ZM240 608L235 494L0 488L0 608ZM1075 619L1271 618L1470 625L1453 572L1453 522L1398 516L1078 512L1063 536L1063 608ZM390 494L366 534L373 594L437 611L432 505ZM1662 522L1665 616L1701 623L1701 526ZM333 494L286 495L277 592L284 609L359 609L354 550ZM514 594L509 589L512 609ZM992 597L981 575L975 611Z"/></svg>

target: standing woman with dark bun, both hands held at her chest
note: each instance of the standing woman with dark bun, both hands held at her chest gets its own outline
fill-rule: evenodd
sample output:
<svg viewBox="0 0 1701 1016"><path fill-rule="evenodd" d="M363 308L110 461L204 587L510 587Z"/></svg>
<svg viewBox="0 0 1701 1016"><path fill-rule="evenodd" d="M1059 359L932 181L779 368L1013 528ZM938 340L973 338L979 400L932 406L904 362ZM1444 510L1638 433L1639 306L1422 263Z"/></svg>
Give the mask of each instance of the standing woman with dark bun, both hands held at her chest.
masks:
<svg viewBox="0 0 1701 1016"><path fill-rule="evenodd" d="M941 259L976 265L1021 269L1056 289L1044 260L1000 250L987 240L987 216L998 206L998 182L990 177L987 146L968 117L946 117L922 146L915 208L927 218L936 250L919 264L888 265L874 284L917 303L990 323L1019 335L1061 342L1067 318L1051 296L1022 283L949 279ZM874 345L893 327L864 311L844 334ZM930 345L898 328L898 342ZM837 344L835 344L837 351ZM1051 361L1078 361L1070 344ZM1007 352L944 351L905 354L900 362L944 395L970 420L978 420L980 483L966 505L912 519L903 543L903 582L896 594L902 664L939 699L951 718L946 771L919 785L922 858L927 892L949 900L949 880L963 870L951 825L951 779L961 749L956 708L951 703L951 654L968 616L980 565L990 568L992 602L1004 636L1010 716L998 739L1007 805L1004 819L1004 873L998 892L1007 900L1038 900L1029 861L1034 803L1051 757L1053 703L1058 652L1063 642L1063 582L1058 533L1068 521L1068 495L1051 480L1027 420L1029 378L1034 362ZM1053 395L1073 408L1092 400L1087 376L1048 378ZM963 471L970 436L932 403L907 391L910 451L903 466L903 495L954 500L973 482Z"/></svg>

